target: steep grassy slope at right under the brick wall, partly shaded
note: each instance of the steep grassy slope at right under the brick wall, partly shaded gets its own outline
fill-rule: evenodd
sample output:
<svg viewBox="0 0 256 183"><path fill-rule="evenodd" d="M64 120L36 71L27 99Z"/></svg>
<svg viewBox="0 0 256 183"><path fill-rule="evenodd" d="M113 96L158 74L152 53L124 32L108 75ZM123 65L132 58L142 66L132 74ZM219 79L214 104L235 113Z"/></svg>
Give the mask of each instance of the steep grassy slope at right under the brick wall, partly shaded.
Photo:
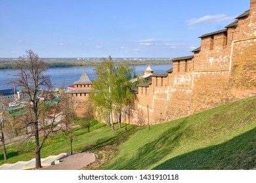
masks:
<svg viewBox="0 0 256 183"><path fill-rule="evenodd" d="M104 169L256 167L256 96L146 127Z"/></svg>

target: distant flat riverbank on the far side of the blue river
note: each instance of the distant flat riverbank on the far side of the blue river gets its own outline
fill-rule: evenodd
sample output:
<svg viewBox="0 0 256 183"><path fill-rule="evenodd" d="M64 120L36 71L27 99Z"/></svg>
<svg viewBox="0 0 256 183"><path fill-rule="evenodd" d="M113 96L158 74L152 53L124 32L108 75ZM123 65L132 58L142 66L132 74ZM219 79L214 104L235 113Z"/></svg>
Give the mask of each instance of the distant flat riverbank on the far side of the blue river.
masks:
<svg viewBox="0 0 256 183"><path fill-rule="evenodd" d="M102 62L102 59L88 58L55 58L43 59L49 68L68 68L68 67L95 67ZM0 69L17 69L16 59L0 59ZM165 65L172 64L171 59L167 58L140 58L140 59L113 59L116 65L129 63L130 65Z"/></svg>

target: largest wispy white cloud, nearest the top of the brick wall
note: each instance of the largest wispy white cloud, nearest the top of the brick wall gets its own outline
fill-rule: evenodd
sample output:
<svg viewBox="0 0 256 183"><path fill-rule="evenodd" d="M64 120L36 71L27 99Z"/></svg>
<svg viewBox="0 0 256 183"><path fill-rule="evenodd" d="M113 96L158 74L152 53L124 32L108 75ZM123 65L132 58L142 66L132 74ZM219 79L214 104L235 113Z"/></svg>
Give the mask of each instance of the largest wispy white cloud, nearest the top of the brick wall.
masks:
<svg viewBox="0 0 256 183"><path fill-rule="evenodd" d="M191 25L220 24L222 22L234 20L234 18L235 16L226 16L225 14L207 15L201 18L186 20L186 24L192 28Z"/></svg>

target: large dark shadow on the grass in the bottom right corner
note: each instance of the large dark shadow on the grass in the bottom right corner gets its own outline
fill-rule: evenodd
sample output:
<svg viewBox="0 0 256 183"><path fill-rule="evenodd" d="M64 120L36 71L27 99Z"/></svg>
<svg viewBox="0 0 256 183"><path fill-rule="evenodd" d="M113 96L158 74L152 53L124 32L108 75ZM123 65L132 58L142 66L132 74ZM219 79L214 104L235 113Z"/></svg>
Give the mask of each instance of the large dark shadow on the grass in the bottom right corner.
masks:
<svg viewBox="0 0 256 183"><path fill-rule="evenodd" d="M154 169L252 169L256 167L255 141L256 128L223 144L171 158Z"/></svg>

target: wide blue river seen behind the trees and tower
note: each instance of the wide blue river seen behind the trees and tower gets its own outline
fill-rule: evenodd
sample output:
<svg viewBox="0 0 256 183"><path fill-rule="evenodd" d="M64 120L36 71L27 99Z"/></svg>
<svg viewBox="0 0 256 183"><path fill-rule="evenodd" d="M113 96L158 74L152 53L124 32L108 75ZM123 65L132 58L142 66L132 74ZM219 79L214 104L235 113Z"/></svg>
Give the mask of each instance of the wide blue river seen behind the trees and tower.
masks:
<svg viewBox="0 0 256 183"><path fill-rule="evenodd" d="M136 65L135 73L144 74L144 70L148 65ZM173 65L150 65L154 73L165 73L171 69ZM95 80L95 67L68 67L68 68L51 68L46 74L51 76L53 86L58 88L60 86L70 86L75 81L79 80L81 74L85 71L91 80ZM14 73L18 70L0 70L0 90L12 88L12 84L8 84L12 79Z"/></svg>

